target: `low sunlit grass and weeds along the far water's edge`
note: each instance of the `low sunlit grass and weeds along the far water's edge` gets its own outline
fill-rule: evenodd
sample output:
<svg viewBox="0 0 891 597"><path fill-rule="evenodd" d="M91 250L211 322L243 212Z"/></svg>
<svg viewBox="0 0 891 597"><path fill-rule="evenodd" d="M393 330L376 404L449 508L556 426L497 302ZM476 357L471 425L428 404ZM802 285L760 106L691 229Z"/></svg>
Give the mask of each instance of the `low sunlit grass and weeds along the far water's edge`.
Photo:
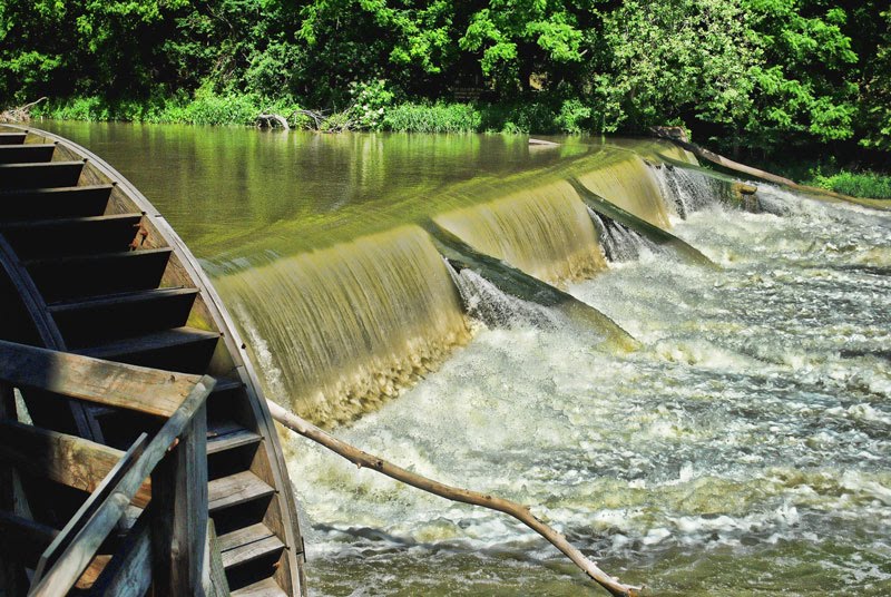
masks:
<svg viewBox="0 0 891 597"><path fill-rule="evenodd" d="M200 89L194 96L109 100L98 96L50 100L32 116L57 120L256 126L261 114L283 116L288 126L322 131L497 133L580 135L590 130L593 109L578 100L540 102L394 102L392 95L364 88L340 111L304 109L293 99L270 100L257 94L219 95ZM313 117L315 116L315 118ZM822 149L822 148L821 148ZM825 148L830 149L830 148ZM853 197L891 199L891 173L848 164L831 153L810 159L760 164L803 185Z"/></svg>

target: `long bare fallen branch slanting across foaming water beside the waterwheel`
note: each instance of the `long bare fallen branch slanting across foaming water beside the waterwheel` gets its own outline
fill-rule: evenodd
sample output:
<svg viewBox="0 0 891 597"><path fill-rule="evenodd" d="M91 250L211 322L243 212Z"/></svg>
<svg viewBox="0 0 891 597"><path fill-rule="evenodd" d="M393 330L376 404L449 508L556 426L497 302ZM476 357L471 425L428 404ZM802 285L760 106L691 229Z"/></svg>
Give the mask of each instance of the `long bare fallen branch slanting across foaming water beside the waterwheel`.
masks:
<svg viewBox="0 0 891 597"><path fill-rule="evenodd" d="M569 559L572 560L576 566L581 568L586 575L597 581L597 584L608 590L611 595L630 597L637 595L640 590L640 587L623 585L618 581L618 579L613 578L600 570L596 564L586 558L581 551L576 549L569 541L567 541L566 537L536 518L526 506L510 500L478 493L477 491L447 486L425 477L421 477L420 474L408 471L401 467L396 467L395 464L391 464L382 458L363 452L362 450L339 440L337 438L322 431L314 424L301 419L293 412L287 411L271 400L266 402L270 407L270 412L272 413L273 419L282 423L287 429L300 433L304 438L324 446L332 452L345 458L356 467L373 469L382 474L395 479L396 481L417 487L418 489L434 493L441 498L470 503L472 506L482 506L483 508L489 508L490 510L498 510L499 512L510 515L550 541L554 547L562 551Z"/></svg>

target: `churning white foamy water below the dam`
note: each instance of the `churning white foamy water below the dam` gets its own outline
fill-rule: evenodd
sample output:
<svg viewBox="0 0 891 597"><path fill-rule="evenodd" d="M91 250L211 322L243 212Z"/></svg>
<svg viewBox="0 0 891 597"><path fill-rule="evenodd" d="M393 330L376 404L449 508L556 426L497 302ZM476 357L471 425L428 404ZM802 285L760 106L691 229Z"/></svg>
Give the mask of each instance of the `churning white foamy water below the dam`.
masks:
<svg viewBox="0 0 891 597"><path fill-rule="evenodd" d="M891 217L758 194L785 215L673 231L723 271L643 251L569 287L639 352L519 317L337 434L532 506L655 595L891 594ZM511 519L288 449L313 595L598 594Z"/></svg>

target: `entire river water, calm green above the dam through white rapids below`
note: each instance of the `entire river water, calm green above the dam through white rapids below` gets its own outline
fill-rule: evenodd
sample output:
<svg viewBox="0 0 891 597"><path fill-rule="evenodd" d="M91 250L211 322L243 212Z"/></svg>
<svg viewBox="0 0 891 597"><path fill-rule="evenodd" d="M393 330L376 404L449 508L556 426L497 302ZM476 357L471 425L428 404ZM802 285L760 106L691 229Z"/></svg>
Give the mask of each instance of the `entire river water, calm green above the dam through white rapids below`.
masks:
<svg viewBox="0 0 891 597"><path fill-rule="evenodd" d="M654 595L891 594L888 214L767 186L742 212L643 141L37 126L158 207L268 394L343 439L532 506ZM568 177L719 268L624 232L608 261ZM430 219L643 348L450 272ZM286 451L311 595L604 595L511 519Z"/></svg>

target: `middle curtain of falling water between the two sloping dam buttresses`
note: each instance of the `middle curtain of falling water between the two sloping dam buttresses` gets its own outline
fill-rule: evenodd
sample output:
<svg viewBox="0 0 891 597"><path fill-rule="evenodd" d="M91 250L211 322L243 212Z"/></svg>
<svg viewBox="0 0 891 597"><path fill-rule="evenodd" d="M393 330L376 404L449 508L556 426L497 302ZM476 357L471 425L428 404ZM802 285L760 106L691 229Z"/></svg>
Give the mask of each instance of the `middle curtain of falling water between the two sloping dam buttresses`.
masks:
<svg viewBox="0 0 891 597"><path fill-rule="evenodd" d="M480 253L552 284L590 277L606 268L588 212L566 180L433 219Z"/></svg>

